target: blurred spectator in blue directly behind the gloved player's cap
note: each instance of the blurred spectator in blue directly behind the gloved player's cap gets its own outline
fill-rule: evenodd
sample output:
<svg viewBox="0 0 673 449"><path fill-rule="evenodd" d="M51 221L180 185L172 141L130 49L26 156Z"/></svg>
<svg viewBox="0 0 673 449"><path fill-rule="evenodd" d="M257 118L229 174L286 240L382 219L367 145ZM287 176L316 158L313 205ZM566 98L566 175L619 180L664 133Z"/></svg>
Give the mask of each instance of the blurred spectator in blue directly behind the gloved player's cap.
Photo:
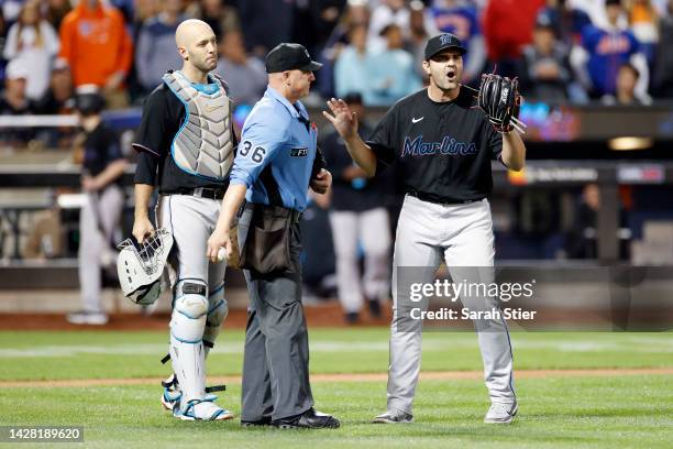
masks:
<svg viewBox="0 0 673 449"><path fill-rule="evenodd" d="M435 0L431 12L439 31L455 34L467 46L463 56L463 83L479 80L486 62L486 47L476 7L466 0Z"/></svg>

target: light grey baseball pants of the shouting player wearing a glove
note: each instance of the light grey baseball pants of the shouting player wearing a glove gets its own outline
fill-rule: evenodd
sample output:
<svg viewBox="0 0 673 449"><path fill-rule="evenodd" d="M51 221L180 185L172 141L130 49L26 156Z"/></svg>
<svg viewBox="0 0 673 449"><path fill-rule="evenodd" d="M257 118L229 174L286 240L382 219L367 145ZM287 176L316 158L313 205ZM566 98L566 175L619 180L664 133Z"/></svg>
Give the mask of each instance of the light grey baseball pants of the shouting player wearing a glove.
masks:
<svg viewBox="0 0 673 449"><path fill-rule="evenodd" d="M418 283L432 283L443 258L455 282L490 283L494 264L490 206L486 199L466 205L442 206L407 196L399 216L393 270L393 324L388 371L388 409L411 413L420 371L421 332L399 331L404 321L398 305L409 305L409 292L398 292L399 267L422 270ZM478 298L461 298L464 307L482 309ZM497 299L492 307L497 307ZM468 304L466 304L468 303ZM399 307L401 309L401 307ZM481 320L477 327L484 377L493 403L514 403L512 354L504 320ZM448 346L451 336L448 335Z"/></svg>

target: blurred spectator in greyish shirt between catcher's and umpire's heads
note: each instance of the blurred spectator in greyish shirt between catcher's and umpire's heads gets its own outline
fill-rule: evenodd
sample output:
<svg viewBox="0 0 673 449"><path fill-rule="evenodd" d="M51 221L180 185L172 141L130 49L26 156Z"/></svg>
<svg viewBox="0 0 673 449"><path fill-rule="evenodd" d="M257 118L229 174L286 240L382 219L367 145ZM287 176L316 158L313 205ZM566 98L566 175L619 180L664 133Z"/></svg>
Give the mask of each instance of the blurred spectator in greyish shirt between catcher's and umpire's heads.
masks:
<svg viewBox="0 0 673 449"><path fill-rule="evenodd" d="M266 89L267 74L262 61L245 53L241 31L224 32L219 54L216 73L227 79L236 106L256 103Z"/></svg>

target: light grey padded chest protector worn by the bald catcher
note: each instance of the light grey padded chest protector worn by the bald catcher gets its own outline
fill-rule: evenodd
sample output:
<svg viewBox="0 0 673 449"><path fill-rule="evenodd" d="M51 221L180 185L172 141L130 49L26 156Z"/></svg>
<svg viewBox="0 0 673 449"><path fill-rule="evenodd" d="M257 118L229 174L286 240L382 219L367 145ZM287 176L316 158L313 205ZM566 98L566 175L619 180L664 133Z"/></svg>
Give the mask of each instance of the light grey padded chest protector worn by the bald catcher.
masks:
<svg viewBox="0 0 673 449"><path fill-rule="evenodd" d="M186 119L173 140L170 154L185 172L223 179L233 163L232 101L224 88L207 94L180 73L167 73L164 81L183 101Z"/></svg>

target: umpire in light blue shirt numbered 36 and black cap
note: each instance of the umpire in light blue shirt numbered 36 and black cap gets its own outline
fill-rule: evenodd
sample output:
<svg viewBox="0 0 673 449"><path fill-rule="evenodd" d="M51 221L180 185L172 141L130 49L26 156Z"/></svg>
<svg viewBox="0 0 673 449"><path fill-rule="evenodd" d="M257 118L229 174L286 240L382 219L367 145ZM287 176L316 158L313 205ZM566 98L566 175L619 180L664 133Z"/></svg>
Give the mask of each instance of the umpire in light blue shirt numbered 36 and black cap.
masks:
<svg viewBox="0 0 673 449"><path fill-rule="evenodd" d="M279 44L266 56L268 87L243 125L208 256L233 254L230 229L239 220L241 266L250 291L241 424L282 428L336 428L313 409L309 348L301 306L299 218L308 188L324 194L332 180L317 149L317 131L300 98L316 80L299 44Z"/></svg>

